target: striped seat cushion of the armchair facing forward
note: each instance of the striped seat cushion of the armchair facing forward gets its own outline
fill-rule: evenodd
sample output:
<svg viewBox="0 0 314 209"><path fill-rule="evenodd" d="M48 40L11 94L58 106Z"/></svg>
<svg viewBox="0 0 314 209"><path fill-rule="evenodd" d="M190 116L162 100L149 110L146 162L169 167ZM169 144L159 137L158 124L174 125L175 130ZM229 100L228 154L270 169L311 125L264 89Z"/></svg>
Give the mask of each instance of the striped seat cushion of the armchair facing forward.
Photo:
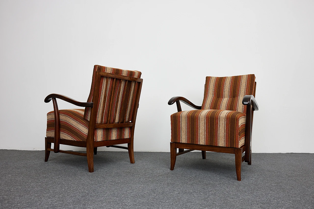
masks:
<svg viewBox="0 0 314 209"><path fill-rule="evenodd" d="M190 110L171 115L171 142L240 148L246 114L230 110Z"/></svg>

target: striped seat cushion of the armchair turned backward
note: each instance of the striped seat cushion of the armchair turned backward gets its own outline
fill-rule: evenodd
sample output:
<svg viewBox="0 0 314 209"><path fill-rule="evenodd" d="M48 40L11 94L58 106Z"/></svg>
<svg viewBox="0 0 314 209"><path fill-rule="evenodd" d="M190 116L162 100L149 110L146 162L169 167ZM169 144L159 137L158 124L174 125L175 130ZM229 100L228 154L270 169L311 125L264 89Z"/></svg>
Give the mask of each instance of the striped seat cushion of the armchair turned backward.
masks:
<svg viewBox="0 0 314 209"><path fill-rule="evenodd" d="M86 141L89 121L85 120L84 109L59 110L60 138L74 141ZM47 113L47 137L54 137L54 112ZM126 128L96 128L95 141L130 138L130 127Z"/></svg>

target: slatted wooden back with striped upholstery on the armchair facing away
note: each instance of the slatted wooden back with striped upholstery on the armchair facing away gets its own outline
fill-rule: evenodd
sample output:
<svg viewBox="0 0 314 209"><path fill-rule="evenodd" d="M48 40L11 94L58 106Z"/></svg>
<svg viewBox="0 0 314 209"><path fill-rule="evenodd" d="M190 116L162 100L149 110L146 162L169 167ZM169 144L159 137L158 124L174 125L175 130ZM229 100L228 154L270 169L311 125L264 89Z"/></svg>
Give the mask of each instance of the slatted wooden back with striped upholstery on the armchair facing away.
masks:
<svg viewBox="0 0 314 209"><path fill-rule="evenodd" d="M95 119L95 141L130 138L135 123L143 79L141 72L94 66L92 85L84 119Z"/></svg>

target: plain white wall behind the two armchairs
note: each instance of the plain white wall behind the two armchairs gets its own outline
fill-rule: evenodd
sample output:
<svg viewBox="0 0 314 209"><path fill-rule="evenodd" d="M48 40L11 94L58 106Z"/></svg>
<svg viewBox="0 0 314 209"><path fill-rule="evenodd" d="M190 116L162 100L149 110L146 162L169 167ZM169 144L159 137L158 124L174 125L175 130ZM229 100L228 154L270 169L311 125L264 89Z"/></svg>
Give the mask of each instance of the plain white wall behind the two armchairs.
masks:
<svg viewBox="0 0 314 209"><path fill-rule="evenodd" d="M98 64L142 72L136 151L170 150L171 97L201 105L205 76L254 73L252 151L313 153L313 8L286 0L0 1L0 149L44 149L53 110L44 98L85 102Z"/></svg>

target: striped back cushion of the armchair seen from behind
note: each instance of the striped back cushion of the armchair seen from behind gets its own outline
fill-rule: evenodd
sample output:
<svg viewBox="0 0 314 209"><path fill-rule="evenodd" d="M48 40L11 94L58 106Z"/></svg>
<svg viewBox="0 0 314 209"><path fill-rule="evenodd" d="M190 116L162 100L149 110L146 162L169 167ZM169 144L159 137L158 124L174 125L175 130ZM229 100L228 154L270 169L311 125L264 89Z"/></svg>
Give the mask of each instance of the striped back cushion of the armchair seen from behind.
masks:
<svg viewBox="0 0 314 209"><path fill-rule="evenodd" d="M94 66L92 86L87 102L92 102L96 72L140 78L141 72ZM138 82L101 76L96 123L124 123L132 120ZM95 107L94 107L95 108ZM85 107L84 119L90 119L91 108Z"/></svg>

